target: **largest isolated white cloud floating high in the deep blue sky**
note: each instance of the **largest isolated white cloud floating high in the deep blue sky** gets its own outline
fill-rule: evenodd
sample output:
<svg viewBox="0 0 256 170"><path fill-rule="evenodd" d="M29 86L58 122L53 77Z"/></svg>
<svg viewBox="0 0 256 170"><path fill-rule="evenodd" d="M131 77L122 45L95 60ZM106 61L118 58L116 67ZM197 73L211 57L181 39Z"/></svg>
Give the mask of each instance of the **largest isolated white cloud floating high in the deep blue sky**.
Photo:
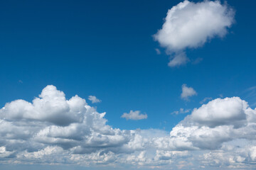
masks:
<svg viewBox="0 0 256 170"><path fill-rule="evenodd" d="M201 47L211 38L223 37L234 22L234 11L220 1L183 1L167 12L165 23L154 35L171 54L170 67L188 62L186 48Z"/></svg>

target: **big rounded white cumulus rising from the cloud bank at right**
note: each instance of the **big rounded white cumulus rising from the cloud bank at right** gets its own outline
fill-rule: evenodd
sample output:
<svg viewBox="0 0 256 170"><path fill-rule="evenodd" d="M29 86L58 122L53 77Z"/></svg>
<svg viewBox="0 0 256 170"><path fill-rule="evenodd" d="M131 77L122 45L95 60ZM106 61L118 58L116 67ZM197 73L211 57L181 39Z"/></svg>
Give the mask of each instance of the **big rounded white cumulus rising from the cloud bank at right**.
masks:
<svg viewBox="0 0 256 170"><path fill-rule="evenodd" d="M217 98L195 108L171 130L170 137L155 138L154 144L166 150L215 150L235 140L256 142L255 116L256 109L238 97Z"/></svg>

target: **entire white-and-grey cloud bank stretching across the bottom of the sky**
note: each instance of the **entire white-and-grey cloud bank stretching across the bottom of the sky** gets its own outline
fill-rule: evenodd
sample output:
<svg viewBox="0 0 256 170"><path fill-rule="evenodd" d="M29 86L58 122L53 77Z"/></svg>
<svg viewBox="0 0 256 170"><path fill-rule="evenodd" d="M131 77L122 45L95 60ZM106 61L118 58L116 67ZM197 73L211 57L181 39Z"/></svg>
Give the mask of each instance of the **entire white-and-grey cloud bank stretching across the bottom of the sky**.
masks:
<svg viewBox="0 0 256 170"><path fill-rule="evenodd" d="M194 108L169 135L112 128L104 117L85 99L68 100L52 85L32 103L6 103L0 110L0 163L158 169L250 169L256 163L256 109L239 97Z"/></svg>

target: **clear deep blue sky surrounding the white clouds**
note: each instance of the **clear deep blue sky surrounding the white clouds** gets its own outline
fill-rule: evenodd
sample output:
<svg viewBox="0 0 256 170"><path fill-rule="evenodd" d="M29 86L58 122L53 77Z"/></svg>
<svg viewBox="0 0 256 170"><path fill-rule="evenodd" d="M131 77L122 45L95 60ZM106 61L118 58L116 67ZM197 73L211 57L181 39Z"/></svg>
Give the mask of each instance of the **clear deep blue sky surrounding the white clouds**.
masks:
<svg viewBox="0 0 256 170"><path fill-rule="evenodd" d="M67 100L77 94L80 98L85 98L89 106L97 108L98 113L106 112L107 125L113 129L146 130L142 134L143 137L145 134L156 135L154 130L159 130L156 132L160 134L159 137L165 133L169 135L172 128L192 114L193 108L201 108L204 98L208 98L204 102L208 103L215 102L215 98L230 99L238 96L239 102L246 101L247 108L255 111L255 1L233 0L227 1L228 4L222 1L221 6L233 9L230 26L222 26L220 32L215 34L208 33L206 42L201 42L200 45L188 45L177 50L174 46L161 44L161 40L156 40L154 35L165 23L167 11L180 2L183 1L1 1L1 108L17 99L32 102L46 86L53 85L65 93ZM202 1L193 2L197 6L197 3ZM193 6L191 8L193 9ZM191 33L193 34L193 31ZM220 34L223 36L220 37ZM158 54L156 49L161 54ZM186 54L189 62L169 67L168 63L180 52ZM181 98L183 84L196 91L196 94ZM100 102L92 103L87 99L88 96L96 96ZM230 99L231 101L233 102L233 99ZM15 108L18 109L18 106L13 109ZM181 108L186 113L175 113ZM233 108L230 109L233 111ZM147 118L121 118L124 113L130 111L140 111L139 114L147 115ZM0 113L3 115L0 117L2 120L17 123L16 118L12 120L8 117L11 110L10 113L5 113L4 110ZM247 110L245 113L247 114ZM192 115L197 114L199 113L193 112ZM256 123L254 115L249 115L248 113L247 116L252 117L252 120L248 119L248 123ZM199 121L196 118L198 117L195 117L194 121ZM235 122L234 118L228 121ZM50 122L55 123L53 120ZM6 129L4 125L3 127L4 130L8 129L7 126ZM243 137L233 140L240 144L240 138ZM7 148L9 140L3 141L0 145ZM247 142L253 145L255 139L247 139ZM224 144L221 145L223 147ZM36 152L47 146L33 149ZM172 148L170 152L176 149ZM209 150L211 149L203 149L202 152L206 154ZM144 151L153 152L149 149L139 149L133 153L139 155L139 152ZM14 152L14 149L8 152ZM11 169L11 166L6 164L11 160L21 164L41 164L35 160L1 157L0 167ZM169 160L174 161L174 158ZM178 160L182 161L181 158ZM252 169L252 166L247 166L245 162L255 161L256 159L250 156L233 166ZM114 164L129 169L135 164L115 162L117 163L112 162L109 166ZM60 164L58 161L53 163ZM69 163L68 161L67 164ZM166 164L163 167L166 168ZM151 163L144 164L141 168L150 169L150 166L159 167ZM215 167L218 166L220 165ZM86 167L102 168L97 164ZM176 169L171 164L170 167ZM181 168L183 167L188 168ZM199 164L195 163L191 167L198 169Z"/></svg>

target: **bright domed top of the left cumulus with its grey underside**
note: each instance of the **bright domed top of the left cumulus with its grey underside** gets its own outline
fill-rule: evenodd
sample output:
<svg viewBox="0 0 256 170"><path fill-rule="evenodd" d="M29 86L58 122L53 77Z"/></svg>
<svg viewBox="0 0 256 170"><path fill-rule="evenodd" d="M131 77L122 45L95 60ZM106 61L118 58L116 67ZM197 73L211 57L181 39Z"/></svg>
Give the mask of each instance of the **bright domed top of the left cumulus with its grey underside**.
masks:
<svg viewBox="0 0 256 170"><path fill-rule="evenodd" d="M57 91L55 86L47 86L33 103L23 100L6 103L0 111L0 118L10 121L35 120L69 125L82 122L81 113L85 111L85 104L85 100L78 96L66 101L62 91Z"/></svg>

